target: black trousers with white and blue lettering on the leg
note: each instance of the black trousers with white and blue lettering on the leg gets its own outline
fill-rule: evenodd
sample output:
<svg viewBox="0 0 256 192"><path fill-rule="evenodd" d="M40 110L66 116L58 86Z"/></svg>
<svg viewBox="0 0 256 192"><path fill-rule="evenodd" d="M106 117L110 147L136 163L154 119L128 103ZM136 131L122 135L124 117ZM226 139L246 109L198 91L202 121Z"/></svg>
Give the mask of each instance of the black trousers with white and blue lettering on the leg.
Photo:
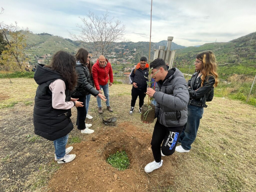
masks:
<svg viewBox="0 0 256 192"><path fill-rule="evenodd" d="M157 163L161 161L161 149L162 153L166 156L172 155L175 152L182 130L183 126L165 127L156 121L151 140L151 149Z"/></svg>

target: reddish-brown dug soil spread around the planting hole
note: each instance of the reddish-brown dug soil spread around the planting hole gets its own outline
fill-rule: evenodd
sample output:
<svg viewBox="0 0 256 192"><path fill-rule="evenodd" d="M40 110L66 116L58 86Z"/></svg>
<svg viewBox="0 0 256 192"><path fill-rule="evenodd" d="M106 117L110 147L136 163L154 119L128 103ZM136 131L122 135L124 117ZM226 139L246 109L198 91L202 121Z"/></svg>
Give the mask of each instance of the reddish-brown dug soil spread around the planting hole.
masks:
<svg viewBox="0 0 256 192"><path fill-rule="evenodd" d="M147 174L144 167L152 162L152 133L139 131L124 122L118 127L92 134L92 140L73 144L76 159L62 164L49 182L49 191L151 191L173 184L175 155L163 157L163 166ZM130 167L124 171L106 162L110 154L124 150Z"/></svg>

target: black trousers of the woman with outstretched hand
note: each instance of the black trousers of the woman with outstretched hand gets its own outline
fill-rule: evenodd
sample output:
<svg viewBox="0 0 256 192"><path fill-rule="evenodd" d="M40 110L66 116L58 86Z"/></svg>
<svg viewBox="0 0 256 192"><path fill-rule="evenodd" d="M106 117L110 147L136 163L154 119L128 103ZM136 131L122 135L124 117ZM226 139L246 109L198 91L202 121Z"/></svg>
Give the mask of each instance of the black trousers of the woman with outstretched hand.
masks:
<svg viewBox="0 0 256 192"><path fill-rule="evenodd" d="M86 96L84 97L76 97L78 101L83 102L83 107L77 107L77 129L83 130L85 129L85 118L86 118Z"/></svg>

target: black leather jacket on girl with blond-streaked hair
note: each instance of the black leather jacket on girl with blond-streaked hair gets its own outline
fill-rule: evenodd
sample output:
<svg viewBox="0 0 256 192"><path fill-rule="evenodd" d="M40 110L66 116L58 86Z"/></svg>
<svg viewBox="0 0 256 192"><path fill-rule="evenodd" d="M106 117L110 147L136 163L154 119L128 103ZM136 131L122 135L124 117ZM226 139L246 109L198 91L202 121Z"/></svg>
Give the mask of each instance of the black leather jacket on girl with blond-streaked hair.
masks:
<svg viewBox="0 0 256 192"><path fill-rule="evenodd" d="M205 80L201 87L201 78L198 77L198 72L195 72L191 79L188 80L189 104L206 107L206 102L211 101L214 96L214 83L215 79L210 76L208 81ZM197 91L196 91L197 90Z"/></svg>

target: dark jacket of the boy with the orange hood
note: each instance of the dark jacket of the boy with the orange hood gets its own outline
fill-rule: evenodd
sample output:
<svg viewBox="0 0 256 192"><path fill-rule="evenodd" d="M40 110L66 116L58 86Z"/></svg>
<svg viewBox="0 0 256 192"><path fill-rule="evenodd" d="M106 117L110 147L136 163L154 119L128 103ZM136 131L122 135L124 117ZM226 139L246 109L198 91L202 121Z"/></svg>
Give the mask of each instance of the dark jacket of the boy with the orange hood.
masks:
<svg viewBox="0 0 256 192"><path fill-rule="evenodd" d="M138 90L145 90L147 89L147 79L145 77L148 77L148 67L145 67L143 70L141 68L136 69L134 68L130 74L130 82L131 84L133 82L137 83ZM135 70L135 73L134 73ZM145 76L145 77L144 77Z"/></svg>

